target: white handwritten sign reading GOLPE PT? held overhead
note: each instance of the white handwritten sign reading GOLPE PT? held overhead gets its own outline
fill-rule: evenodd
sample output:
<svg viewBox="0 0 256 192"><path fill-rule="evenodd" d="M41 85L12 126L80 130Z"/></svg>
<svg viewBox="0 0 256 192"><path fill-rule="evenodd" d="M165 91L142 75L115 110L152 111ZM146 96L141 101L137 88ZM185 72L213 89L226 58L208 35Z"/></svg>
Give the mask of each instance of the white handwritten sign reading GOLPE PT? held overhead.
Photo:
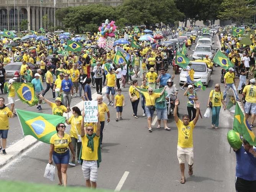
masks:
<svg viewBox="0 0 256 192"><path fill-rule="evenodd" d="M98 102L97 101L85 101L84 102L84 122L98 122Z"/></svg>

